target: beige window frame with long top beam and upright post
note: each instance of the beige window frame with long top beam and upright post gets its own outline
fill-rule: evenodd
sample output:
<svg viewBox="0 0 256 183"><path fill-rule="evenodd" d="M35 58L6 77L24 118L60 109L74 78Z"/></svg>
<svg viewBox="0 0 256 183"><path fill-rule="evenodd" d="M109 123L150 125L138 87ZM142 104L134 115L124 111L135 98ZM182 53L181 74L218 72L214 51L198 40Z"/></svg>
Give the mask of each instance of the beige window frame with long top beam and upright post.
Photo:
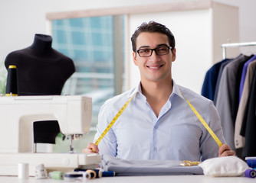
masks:
<svg viewBox="0 0 256 183"><path fill-rule="evenodd" d="M77 11L62 11L62 12L49 12L46 14L47 20L47 32L51 34L51 21L58 19L66 19L66 18L87 18L87 17L99 17L99 16L114 16L113 24L115 27L120 26L120 17L124 16L124 33L123 33L123 45L124 45L124 75L120 72L121 66L120 56L123 55L123 50L118 48L122 48L120 45L120 40L115 40L115 47L117 49L115 51L115 60L114 60L114 78L115 78L115 95L120 94L122 91L126 91L131 88L131 79L130 79L130 53L132 52L130 47L130 25L129 18L132 14L148 14L148 13L156 13L156 12L169 12L169 11L188 11L188 10L200 10L205 8L211 8L212 1L196 1L196 2L167 2L160 4L152 4L152 5L136 5L129 7L114 7L114 8L99 8L99 9L86 9L86 10L77 10ZM118 30L118 29L115 29ZM119 29L120 30L120 29ZM122 34L120 32L114 33L116 35ZM125 83L123 85L120 79L125 78ZM120 87L119 87L120 86ZM123 88L122 88L123 86Z"/></svg>

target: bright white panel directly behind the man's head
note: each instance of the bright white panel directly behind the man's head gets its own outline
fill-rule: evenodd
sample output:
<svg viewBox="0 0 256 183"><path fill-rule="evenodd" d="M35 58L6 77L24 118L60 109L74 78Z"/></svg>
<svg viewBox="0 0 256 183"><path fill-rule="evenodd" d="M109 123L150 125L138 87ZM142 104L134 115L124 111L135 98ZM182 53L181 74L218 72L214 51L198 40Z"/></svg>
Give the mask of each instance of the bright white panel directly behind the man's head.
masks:
<svg viewBox="0 0 256 183"><path fill-rule="evenodd" d="M129 19L130 37L143 21L157 21L169 27L176 39L176 61L172 63L172 79L177 84L200 93L205 72L212 66L211 11L207 8L195 11L132 14ZM130 60L133 60L132 56ZM139 69L130 60L130 85L127 88L135 87L140 80Z"/></svg>

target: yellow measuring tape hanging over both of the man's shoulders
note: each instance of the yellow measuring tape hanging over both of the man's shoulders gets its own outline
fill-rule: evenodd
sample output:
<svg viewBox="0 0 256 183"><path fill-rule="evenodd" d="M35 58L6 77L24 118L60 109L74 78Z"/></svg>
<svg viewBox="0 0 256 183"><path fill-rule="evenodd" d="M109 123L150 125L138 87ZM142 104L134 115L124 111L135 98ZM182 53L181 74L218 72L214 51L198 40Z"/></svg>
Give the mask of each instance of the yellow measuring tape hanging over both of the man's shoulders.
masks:
<svg viewBox="0 0 256 183"><path fill-rule="evenodd" d="M181 92L181 94L182 94L182 92ZM110 128L113 126L113 124L117 121L118 117L120 117L120 115L123 113L124 109L127 107L127 105L130 103L130 101L133 99L133 96L131 98L129 98L128 101L126 101L126 103L123 105L123 107L120 109L120 111L118 111L116 116L113 117L113 120L111 120L110 124L106 127L106 129L103 131L103 133L101 133L100 137L94 143L96 146L98 146L98 144L100 143L100 140L103 139L103 137L106 135L106 133L110 130ZM182 94L182 96L184 97L183 94ZM208 126L208 124L206 124L205 120L201 117L199 112L195 110L195 108L192 106L192 104L190 104L190 102L186 98L185 98L185 100L189 103L190 108L192 108L192 111L199 118L199 120L204 125L206 130L208 130L208 132L212 135L212 138L215 140L215 142L218 144L218 146L221 147L222 146L222 142L218 139L218 137L215 135L215 133L212 131L212 129Z"/></svg>

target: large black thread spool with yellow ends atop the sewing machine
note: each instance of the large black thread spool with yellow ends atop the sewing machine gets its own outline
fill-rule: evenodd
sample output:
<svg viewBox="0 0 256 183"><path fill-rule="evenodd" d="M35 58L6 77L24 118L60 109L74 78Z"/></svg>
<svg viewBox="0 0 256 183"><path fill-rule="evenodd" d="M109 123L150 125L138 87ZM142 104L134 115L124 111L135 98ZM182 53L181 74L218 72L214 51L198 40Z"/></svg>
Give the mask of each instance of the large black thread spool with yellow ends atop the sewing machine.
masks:
<svg viewBox="0 0 256 183"><path fill-rule="evenodd" d="M7 73L7 82L5 96L18 96L18 75L16 66L9 66Z"/></svg>

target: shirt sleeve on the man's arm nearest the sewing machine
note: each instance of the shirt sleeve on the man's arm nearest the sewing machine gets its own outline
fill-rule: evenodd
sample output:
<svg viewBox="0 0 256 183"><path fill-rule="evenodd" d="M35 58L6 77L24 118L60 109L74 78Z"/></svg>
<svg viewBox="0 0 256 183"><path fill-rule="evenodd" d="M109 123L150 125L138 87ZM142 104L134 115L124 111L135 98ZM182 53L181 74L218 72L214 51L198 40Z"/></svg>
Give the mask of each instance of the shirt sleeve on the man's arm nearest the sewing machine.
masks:
<svg viewBox="0 0 256 183"><path fill-rule="evenodd" d="M94 143L100 137L101 133L106 129L108 124L110 124L112 118L110 117L110 111L107 111L107 104L103 104L100 108L99 116L98 116L98 124L97 124L97 133L94 136ZM117 137L115 133L113 133L112 128L106 133L100 143L98 144L100 149L100 155L107 154L110 156L117 155Z"/></svg>

